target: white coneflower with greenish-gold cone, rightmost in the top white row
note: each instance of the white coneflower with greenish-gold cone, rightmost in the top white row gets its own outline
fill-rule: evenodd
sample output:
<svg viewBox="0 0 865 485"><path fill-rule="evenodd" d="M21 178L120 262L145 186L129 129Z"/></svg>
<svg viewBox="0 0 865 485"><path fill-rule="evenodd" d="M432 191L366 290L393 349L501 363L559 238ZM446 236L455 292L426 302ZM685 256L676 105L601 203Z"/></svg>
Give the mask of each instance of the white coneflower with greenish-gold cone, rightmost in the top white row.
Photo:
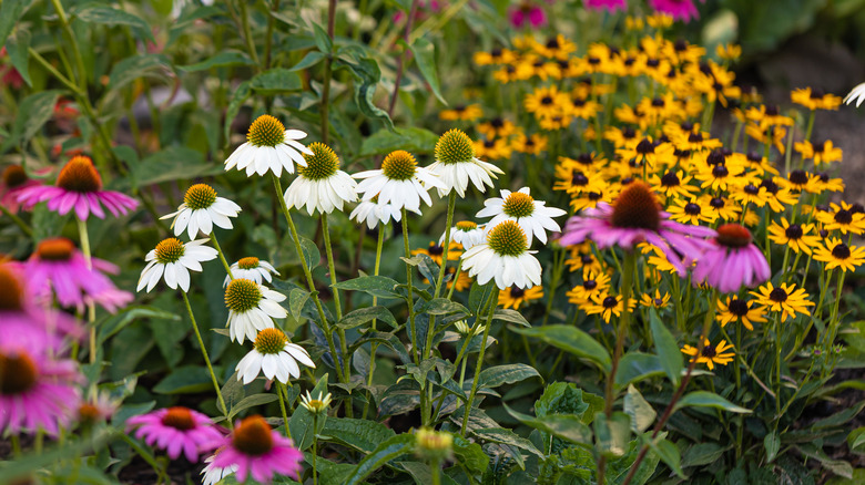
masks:
<svg viewBox="0 0 865 485"><path fill-rule="evenodd" d="M444 184L444 188L436 186L439 197L445 197L451 190L465 197L469 182L478 190L486 192L486 186L492 187L492 179L498 178L496 174L505 173L496 165L478 159L471 138L459 130L450 130L438 138L436 162L427 169L438 175Z"/></svg>

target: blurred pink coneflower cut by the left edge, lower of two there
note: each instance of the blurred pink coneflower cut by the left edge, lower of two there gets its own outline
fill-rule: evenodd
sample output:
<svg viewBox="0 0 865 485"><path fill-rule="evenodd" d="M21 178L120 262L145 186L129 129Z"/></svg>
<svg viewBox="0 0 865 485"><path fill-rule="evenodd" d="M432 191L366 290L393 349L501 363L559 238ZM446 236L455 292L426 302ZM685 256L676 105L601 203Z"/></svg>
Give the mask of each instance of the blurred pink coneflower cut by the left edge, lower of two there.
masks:
<svg viewBox="0 0 865 485"><path fill-rule="evenodd" d="M72 360L0 344L0 434L35 433L51 436L72 421L83 379Z"/></svg>

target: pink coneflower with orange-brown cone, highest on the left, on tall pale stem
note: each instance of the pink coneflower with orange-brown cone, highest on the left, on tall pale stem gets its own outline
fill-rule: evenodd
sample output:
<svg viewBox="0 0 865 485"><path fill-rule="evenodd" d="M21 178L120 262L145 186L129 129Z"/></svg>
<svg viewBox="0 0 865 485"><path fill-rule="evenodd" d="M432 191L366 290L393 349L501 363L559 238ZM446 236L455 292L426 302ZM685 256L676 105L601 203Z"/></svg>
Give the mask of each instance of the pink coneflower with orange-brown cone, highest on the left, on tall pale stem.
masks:
<svg viewBox="0 0 865 485"><path fill-rule="evenodd" d="M93 161L86 156L74 156L67 162L57 177L55 186L31 187L22 190L18 202L30 208L38 203L48 200L48 208L65 215L72 208L81 220L86 220L90 213L100 219L105 218L104 205L115 217L126 214L138 207L134 198L113 190L102 189L102 177L96 172Z"/></svg>

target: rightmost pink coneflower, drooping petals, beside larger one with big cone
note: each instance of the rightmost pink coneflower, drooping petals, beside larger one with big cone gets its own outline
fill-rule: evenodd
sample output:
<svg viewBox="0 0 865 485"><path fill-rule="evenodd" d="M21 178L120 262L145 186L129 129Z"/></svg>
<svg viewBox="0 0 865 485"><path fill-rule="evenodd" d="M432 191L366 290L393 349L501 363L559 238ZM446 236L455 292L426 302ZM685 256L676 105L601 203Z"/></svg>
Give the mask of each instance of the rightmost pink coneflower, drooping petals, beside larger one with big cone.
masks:
<svg viewBox="0 0 865 485"><path fill-rule="evenodd" d="M751 233L739 224L718 228L714 245L696 261L694 281L705 281L725 293L760 285L772 276L763 252L751 242Z"/></svg>

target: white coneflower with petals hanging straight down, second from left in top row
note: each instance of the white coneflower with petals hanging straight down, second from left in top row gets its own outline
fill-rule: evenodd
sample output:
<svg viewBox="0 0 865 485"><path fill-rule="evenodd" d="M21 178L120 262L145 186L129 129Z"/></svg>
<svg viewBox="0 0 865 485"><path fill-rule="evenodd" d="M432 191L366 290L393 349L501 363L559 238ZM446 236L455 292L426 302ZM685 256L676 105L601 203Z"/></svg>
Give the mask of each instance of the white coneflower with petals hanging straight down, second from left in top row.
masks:
<svg viewBox="0 0 865 485"><path fill-rule="evenodd" d="M297 169L297 178L285 189L285 205L306 206L312 216L318 213L330 214L343 210L344 203L357 200L357 182L339 169L339 158L324 143L309 145L312 154L305 155L306 166Z"/></svg>

